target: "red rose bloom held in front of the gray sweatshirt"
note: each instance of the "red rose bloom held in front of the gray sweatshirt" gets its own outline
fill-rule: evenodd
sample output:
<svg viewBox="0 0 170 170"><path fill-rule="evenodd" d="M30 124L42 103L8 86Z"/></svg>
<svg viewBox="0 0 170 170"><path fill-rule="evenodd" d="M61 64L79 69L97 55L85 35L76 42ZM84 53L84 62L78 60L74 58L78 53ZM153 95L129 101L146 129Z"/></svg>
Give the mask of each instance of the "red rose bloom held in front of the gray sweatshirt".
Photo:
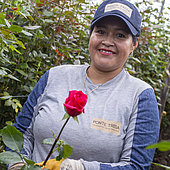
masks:
<svg viewBox="0 0 170 170"><path fill-rule="evenodd" d="M66 99L64 106L66 108L67 113L75 117L82 112L84 113L84 106L87 103L87 95L82 91L72 90L69 91L69 96Z"/></svg>

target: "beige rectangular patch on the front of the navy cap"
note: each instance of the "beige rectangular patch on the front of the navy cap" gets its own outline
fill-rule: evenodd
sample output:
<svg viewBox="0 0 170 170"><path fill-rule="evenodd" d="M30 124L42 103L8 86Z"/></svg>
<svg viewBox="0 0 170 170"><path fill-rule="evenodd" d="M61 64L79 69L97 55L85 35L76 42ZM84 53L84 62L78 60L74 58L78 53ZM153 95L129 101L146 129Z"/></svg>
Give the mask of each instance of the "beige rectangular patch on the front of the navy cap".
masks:
<svg viewBox="0 0 170 170"><path fill-rule="evenodd" d="M132 9L129 8L127 5L121 4L121 3L107 4L106 7L105 7L104 12L110 12L110 11L114 11L114 10L118 10L118 11L124 13L129 18L132 15Z"/></svg>

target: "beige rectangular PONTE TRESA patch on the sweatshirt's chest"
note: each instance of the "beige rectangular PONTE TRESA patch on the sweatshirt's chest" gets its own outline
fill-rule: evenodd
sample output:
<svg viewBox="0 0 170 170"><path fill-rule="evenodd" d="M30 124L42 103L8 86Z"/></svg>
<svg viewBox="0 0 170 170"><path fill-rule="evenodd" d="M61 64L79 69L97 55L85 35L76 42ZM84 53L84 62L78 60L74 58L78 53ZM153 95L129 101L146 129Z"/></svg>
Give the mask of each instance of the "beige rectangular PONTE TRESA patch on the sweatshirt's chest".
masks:
<svg viewBox="0 0 170 170"><path fill-rule="evenodd" d="M91 124L92 129L100 130L107 133L112 133L115 135L120 135L121 123L104 120L99 118L94 118Z"/></svg>

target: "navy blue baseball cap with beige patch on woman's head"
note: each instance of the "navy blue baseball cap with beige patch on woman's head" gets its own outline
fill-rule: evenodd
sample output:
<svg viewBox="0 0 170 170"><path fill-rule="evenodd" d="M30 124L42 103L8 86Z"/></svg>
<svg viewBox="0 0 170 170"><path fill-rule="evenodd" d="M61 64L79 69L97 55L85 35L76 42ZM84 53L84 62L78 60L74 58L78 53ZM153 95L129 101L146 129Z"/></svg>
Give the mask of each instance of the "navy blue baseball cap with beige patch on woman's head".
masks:
<svg viewBox="0 0 170 170"><path fill-rule="evenodd" d="M107 16L120 17L127 24L133 36L140 36L141 15L130 2L126 0L105 0L102 2L96 10L90 30L92 31L95 24Z"/></svg>

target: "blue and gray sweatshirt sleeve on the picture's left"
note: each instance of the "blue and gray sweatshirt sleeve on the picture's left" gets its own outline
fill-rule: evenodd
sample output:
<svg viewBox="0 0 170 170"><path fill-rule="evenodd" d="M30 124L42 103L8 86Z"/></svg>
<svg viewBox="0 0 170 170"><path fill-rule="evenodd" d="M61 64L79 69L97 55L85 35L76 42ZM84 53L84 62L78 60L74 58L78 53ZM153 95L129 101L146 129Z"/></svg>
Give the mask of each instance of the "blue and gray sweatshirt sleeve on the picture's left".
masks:
<svg viewBox="0 0 170 170"><path fill-rule="evenodd" d="M33 91L29 94L27 101L24 103L22 111L18 114L14 126L22 132L24 136L24 147L21 151L22 154L26 155L31 159L33 150L34 135L32 132L32 121L35 114L35 107L38 99L43 94L48 81L49 71L47 71L35 85ZM6 148L6 150L10 150Z"/></svg>

